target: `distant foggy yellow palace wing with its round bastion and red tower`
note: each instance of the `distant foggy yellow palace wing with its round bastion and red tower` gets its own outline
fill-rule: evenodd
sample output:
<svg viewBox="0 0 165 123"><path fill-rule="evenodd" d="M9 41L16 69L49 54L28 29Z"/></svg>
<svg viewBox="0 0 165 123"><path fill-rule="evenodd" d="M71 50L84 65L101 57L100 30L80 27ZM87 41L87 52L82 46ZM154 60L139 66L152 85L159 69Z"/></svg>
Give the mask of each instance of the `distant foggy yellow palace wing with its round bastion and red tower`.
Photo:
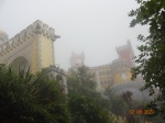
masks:
<svg viewBox="0 0 165 123"><path fill-rule="evenodd" d="M131 81L131 68L134 66L134 53L130 41L123 46L117 47L119 58L111 64L90 67L90 72L96 75L97 90Z"/></svg>

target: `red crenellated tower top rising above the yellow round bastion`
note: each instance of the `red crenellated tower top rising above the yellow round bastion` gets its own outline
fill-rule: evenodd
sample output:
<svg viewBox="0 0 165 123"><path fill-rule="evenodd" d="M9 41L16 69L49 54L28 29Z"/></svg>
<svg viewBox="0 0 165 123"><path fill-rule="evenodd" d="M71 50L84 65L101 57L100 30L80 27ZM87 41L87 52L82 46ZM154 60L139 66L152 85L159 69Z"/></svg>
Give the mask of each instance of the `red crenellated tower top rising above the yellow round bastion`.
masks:
<svg viewBox="0 0 165 123"><path fill-rule="evenodd" d="M134 62L133 62L134 52L132 49L132 46L129 40L125 45L119 46L116 49L117 49L119 58L127 59L129 62L130 68L134 67Z"/></svg>

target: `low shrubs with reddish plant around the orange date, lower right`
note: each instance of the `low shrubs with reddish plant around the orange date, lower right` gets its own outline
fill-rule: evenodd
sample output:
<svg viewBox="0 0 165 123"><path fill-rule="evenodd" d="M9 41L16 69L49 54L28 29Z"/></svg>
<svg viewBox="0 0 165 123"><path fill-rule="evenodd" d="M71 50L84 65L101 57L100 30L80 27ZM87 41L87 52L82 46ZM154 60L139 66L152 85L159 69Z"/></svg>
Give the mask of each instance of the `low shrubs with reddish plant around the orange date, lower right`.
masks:
<svg viewBox="0 0 165 123"><path fill-rule="evenodd" d="M136 111L145 110L145 103L143 101L138 101L132 99L130 91L123 92L121 96L114 96L111 92L111 88L107 88L106 96L110 99L110 111L118 115L118 118L124 118L123 123L144 123L144 121L153 123L164 123L164 120L160 115L157 116L147 116L142 114L136 114ZM129 112L130 110L134 112ZM130 113L134 113L131 114ZM139 112L140 113L140 112Z"/></svg>

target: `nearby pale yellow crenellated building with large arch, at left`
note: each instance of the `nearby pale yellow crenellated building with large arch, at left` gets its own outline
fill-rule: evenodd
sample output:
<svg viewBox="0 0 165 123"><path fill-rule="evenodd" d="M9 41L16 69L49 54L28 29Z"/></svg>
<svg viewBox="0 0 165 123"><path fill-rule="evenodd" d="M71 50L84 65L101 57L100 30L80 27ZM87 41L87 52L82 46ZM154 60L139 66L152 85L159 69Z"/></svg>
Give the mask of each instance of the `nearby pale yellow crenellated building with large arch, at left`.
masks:
<svg viewBox="0 0 165 123"><path fill-rule="evenodd" d="M54 42L58 37L54 29L38 20L10 40L7 33L0 31L0 64L25 70L31 66L32 74L54 66L52 70L57 72L59 70L55 67ZM66 78L65 74L57 74ZM63 80L66 86L66 79Z"/></svg>

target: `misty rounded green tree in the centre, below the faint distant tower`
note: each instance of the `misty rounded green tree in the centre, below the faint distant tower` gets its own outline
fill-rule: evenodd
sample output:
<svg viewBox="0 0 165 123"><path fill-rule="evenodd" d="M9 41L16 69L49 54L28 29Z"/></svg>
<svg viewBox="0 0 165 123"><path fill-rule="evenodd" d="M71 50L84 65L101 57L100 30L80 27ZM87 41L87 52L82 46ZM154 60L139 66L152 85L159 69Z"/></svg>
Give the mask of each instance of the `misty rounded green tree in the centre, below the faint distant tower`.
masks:
<svg viewBox="0 0 165 123"><path fill-rule="evenodd" d="M94 76L82 66L68 76L69 109L74 123L114 123L108 100L95 89Z"/></svg>

